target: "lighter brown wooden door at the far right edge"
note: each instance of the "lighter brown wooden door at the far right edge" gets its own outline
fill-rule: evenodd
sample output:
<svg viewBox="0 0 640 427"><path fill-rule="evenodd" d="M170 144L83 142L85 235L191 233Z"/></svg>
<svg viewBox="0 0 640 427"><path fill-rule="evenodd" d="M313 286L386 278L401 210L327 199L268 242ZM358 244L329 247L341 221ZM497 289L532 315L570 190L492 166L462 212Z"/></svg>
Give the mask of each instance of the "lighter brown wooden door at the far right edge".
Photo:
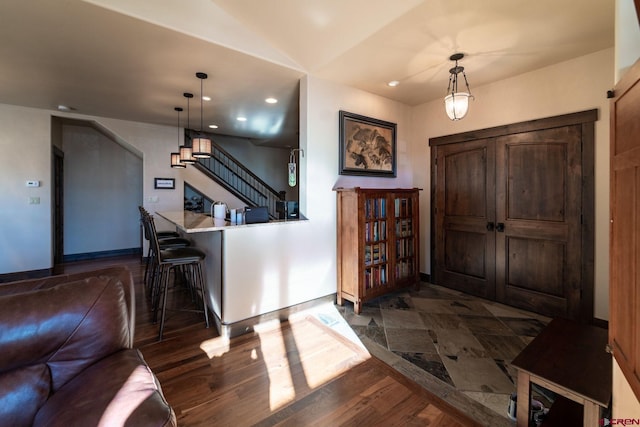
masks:
<svg viewBox="0 0 640 427"><path fill-rule="evenodd" d="M614 93L610 108L609 343L640 399L640 61L625 73Z"/></svg>

